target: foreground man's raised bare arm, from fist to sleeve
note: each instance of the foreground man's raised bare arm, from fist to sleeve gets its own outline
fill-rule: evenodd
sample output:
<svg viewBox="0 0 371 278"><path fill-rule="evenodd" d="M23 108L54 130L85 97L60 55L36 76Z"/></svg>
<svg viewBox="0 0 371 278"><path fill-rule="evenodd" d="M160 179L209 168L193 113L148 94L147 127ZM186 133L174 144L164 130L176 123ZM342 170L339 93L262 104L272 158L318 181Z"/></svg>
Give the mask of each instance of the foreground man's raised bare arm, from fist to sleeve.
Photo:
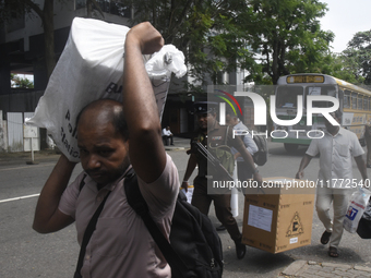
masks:
<svg viewBox="0 0 371 278"><path fill-rule="evenodd" d="M166 165L161 128L153 87L142 55L164 46L164 38L145 22L135 25L124 44L123 111L129 128L131 164L144 182L155 181Z"/></svg>

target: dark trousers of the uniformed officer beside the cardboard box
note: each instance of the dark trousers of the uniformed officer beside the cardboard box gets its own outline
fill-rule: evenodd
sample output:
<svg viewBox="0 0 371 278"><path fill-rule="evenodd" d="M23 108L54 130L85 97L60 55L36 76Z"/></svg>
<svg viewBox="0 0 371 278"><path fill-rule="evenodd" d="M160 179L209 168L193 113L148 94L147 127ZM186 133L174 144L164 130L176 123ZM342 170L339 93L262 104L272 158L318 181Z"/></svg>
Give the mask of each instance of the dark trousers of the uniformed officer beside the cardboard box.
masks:
<svg viewBox="0 0 371 278"><path fill-rule="evenodd" d="M202 214L207 216L212 201L214 201L215 215L226 227L230 238L232 240L240 240L241 232L238 229L236 219L231 214L230 194L207 194L207 179L196 177L194 179L192 205L199 208Z"/></svg>

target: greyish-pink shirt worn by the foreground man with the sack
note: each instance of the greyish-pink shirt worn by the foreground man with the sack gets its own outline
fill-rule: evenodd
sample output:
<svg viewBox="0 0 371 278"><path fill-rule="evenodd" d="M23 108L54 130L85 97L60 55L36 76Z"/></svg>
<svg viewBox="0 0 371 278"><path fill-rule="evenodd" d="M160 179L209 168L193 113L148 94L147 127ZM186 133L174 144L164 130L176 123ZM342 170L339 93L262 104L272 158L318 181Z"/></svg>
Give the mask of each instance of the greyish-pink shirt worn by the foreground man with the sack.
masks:
<svg viewBox="0 0 371 278"><path fill-rule="evenodd" d="M100 191L87 176L85 186L79 192L82 172L64 191L59 209L76 222L81 244L85 228L108 191L104 209L97 221L81 274L84 278L170 277L171 270L152 239L143 220L127 202L123 180L107 184ZM175 202L179 190L178 170L170 156L161 176L147 184L140 180L141 192L149 213L167 237L170 233ZM76 258L77 259L77 258Z"/></svg>

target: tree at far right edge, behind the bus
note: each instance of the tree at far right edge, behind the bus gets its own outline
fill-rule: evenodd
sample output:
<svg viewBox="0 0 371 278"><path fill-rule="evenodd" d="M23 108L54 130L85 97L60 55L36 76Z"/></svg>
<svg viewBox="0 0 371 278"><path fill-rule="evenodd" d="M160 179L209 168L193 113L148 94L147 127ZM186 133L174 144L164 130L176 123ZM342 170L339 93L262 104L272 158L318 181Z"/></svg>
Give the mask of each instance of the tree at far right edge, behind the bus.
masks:
<svg viewBox="0 0 371 278"><path fill-rule="evenodd" d="M371 85L371 29L358 32L342 55L352 67L355 78Z"/></svg>

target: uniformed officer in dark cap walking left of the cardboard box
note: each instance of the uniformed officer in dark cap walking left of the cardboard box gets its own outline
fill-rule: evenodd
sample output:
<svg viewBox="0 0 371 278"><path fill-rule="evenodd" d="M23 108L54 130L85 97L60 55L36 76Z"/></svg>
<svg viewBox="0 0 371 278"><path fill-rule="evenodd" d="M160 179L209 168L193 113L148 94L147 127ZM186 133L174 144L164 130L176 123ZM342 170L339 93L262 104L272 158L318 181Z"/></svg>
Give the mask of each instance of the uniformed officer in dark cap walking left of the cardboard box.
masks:
<svg viewBox="0 0 371 278"><path fill-rule="evenodd" d="M194 179L194 192L192 196L192 205L200 209L201 213L208 215L210 206L212 201L215 206L215 214L218 220L224 225L230 234L230 238L234 240L236 244L236 254L238 258L242 258L246 254L246 245L241 243L241 232L237 226L236 219L234 218L230 209L230 190L229 189L217 189L213 192L207 192L207 183L210 184L212 180L210 178L207 171L207 160L202 157L196 150L195 143L201 143L207 149L211 150L213 147L217 147L220 145L228 145L230 147L235 147L243 157L244 161L247 161L248 169L253 172L253 178L260 184L262 182L262 177L259 174L259 171L255 169L253 158L244 147L242 141L232 135L232 128L228 128L228 125L220 125L216 120L216 109L217 104L215 102L196 102L194 104L195 114L198 117L199 122L199 131L192 138L191 142L191 154L188 160L184 179L182 182L182 188L188 189L188 180L191 177L193 170L196 166L199 166L199 172L196 178ZM215 174L213 180L226 180L226 177L220 174Z"/></svg>

